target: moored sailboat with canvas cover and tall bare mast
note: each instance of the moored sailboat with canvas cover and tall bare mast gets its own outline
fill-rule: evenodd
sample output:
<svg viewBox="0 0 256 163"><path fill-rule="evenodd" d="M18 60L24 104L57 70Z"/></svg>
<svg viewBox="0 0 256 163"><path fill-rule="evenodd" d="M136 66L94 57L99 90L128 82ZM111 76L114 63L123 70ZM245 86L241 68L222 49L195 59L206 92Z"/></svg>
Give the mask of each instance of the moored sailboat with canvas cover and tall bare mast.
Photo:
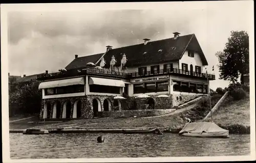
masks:
<svg viewBox="0 0 256 163"><path fill-rule="evenodd" d="M208 96L210 101L210 87L209 87L209 80L208 74L207 75L207 82L208 82ZM217 124L214 123L212 119L212 112L211 112L211 101L210 101L210 115L211 115L211 122L195 122L191 123L188 119L188 123L180 130L179 135L185 137L202 137L202 138L229 138L228 132L229 130L223 129L219 127Z"/></svg>

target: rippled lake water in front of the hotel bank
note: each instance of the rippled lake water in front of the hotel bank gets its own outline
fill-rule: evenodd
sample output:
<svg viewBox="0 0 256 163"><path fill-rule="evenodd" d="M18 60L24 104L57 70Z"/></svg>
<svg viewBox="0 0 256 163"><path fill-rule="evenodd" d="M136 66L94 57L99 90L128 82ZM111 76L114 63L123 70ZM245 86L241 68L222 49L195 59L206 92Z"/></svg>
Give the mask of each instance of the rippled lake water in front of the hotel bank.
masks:
<svg viewBox="0 0 256 163"><path fill-rule="evenodd" d="M249 134L229 139L180 137L178 134L10 133L11 159L232 156L250 154Z"/></svg>

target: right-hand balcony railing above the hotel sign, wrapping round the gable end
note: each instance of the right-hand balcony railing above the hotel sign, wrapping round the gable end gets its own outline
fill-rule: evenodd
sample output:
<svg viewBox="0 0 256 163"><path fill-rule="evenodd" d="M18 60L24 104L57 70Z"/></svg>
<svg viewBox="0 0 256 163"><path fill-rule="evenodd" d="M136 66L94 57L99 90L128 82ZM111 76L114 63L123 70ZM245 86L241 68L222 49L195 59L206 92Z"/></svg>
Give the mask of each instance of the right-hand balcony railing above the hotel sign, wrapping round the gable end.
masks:
<svg viewBox="0 0 256 163"><path fill-rule="evenodd" d="M204 78L206 79L208 76L209 80L215 80L215 74L211 73L204 73L204 72L195 72L195 71L185 71L178 68L169 68L169 69L160 69L159 71L151 72L151 70L146 71L144 73L139 72L131 72L129 73L130 78L136 78L136 77L150 77L155 75L167 75L167 74L176 74L176 75L182 75L182 76L188 76L188 77L195 77L195 78Z"/></svg>

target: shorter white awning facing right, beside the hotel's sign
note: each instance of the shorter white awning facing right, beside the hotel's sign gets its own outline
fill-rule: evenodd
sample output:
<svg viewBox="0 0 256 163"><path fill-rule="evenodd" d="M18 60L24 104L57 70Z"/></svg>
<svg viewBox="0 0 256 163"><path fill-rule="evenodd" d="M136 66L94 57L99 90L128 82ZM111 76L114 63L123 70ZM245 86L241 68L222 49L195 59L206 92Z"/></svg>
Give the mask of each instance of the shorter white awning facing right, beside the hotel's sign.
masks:
<svg viewBox="0 0 256 163"><path fill-rule="evenodd" d="M97 78L97 77L90 77L89 85L125 87L122 80L114 80L114 79L108 79L108 78Z"/></svg>

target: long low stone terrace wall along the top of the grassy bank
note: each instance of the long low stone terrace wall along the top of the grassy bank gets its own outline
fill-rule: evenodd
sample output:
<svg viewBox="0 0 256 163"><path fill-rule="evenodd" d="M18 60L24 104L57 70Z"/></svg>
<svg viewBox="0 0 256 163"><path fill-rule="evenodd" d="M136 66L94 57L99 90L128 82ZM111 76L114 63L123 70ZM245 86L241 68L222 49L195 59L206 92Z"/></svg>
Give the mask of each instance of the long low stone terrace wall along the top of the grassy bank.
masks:
<svg viewBox="0 0 256 163"><path fill-rule="evenodd" d="M168 113L174 112L174 109L165 109L165 110L130 110L130 111L110 111L110 112L101 112L100 117L113 117L113 118L126 118L126 117L151 117L151 116L160 116Z"/></svg>

